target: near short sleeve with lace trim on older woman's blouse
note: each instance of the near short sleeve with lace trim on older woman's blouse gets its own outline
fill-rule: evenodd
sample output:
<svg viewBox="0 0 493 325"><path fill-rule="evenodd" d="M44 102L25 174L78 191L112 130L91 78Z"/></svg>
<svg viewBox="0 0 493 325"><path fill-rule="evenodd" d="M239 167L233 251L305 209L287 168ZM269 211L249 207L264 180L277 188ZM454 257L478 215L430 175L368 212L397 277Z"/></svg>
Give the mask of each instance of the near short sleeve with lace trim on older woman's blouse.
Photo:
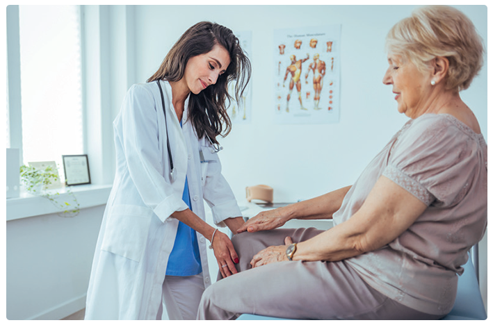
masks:
<svg viewBox="0 0 493 325"><path fill-rule="evenodd" d="M481 167L475 154L481 144L478 135L458 129L460 122L451 123L451 118L423 115L400 135L383 172L427 206L451 206L463 199L467 191L462 184L470 185Z"/></svg>

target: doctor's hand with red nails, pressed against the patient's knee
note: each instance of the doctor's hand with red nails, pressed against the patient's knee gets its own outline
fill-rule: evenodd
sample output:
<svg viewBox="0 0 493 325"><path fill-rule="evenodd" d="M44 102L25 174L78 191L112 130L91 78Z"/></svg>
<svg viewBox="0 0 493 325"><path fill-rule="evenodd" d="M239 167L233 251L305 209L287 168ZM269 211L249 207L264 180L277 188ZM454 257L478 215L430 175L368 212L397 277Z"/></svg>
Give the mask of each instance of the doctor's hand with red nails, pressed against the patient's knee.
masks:
<svg viewBox="0 0 493 325"><path fill-rule="evenodd" d="M239 263L239 258L229 237L225 233L217 231L211 244L223 278L238 273L234 264Z"/></svg>

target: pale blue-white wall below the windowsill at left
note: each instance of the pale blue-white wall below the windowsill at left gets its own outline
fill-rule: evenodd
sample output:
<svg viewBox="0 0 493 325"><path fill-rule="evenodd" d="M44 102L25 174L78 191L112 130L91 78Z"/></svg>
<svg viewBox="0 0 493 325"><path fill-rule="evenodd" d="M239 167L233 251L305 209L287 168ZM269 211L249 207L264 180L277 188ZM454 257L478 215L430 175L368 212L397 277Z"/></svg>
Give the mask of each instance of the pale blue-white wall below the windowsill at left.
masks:
<svg viewBox="0 0 493 325"><path fill-rule="evenodd" d="M104 207L7 222L6 319L62 319L86 306Z"/></svg>

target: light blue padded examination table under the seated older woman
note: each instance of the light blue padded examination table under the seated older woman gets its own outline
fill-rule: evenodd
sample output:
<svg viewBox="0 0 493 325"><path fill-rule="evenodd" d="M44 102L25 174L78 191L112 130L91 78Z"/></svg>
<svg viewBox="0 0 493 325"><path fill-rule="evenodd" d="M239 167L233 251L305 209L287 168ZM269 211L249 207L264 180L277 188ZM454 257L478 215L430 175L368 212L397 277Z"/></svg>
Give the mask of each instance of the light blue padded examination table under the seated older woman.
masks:
<svg viewBox="0 0 493 325"><path fill-rule="evenodd" d="M459 276L457 297L455 298L453 309L443 319L487 319L483 299L481 298L481 293L479 291L478 279L476 278L476 272L471 258L469 258L466 265L464 265L464 273L462 276ZM238 320L282 320L282 318L243 314L238 317Z"/></svg>

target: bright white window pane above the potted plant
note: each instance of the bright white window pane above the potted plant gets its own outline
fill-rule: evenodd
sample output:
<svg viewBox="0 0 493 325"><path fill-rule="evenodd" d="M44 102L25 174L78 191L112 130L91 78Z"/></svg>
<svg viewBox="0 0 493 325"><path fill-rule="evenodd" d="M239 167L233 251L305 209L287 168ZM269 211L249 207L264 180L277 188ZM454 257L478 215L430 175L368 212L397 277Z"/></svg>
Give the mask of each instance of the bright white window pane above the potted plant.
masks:
<svg viewBox="0 0 493 325"><path fill-rule="evenodd" d="M84 153L79 6L19 6L24 163ZM63 178L61 178L63 179Z"/></svg>

